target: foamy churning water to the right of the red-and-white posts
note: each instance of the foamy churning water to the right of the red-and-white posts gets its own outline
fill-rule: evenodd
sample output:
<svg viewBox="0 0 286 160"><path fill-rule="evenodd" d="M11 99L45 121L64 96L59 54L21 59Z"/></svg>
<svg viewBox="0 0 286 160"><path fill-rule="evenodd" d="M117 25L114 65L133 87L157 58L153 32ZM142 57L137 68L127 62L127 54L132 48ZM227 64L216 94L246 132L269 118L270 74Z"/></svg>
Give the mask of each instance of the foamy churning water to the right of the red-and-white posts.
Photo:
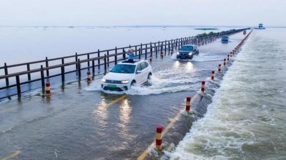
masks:
<svg viewBox="0 0 286 160"><path fill-rule="evenodd" d="M168 159L286 159L286 29L254 30Z"/></svg>

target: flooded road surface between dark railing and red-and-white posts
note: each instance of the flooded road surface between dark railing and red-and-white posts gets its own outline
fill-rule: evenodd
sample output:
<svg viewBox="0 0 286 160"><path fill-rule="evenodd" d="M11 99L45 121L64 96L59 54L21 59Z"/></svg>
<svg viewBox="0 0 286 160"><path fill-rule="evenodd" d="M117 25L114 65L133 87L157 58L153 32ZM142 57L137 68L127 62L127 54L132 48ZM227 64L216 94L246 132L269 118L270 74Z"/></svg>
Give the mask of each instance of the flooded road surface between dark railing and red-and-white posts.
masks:
<svg viewBox="0 0 286 160"><path fill-rule="evenodd" d="M97 76L89 86L52 84L50 98L35 91L2 102L0 159L136 159L152 143L156 126L166 127L184 110L186 96L200 90L243 38L237 33L228 44L201 46L191 61L153 59L151 86L126 93L102 92Z"/></svg>

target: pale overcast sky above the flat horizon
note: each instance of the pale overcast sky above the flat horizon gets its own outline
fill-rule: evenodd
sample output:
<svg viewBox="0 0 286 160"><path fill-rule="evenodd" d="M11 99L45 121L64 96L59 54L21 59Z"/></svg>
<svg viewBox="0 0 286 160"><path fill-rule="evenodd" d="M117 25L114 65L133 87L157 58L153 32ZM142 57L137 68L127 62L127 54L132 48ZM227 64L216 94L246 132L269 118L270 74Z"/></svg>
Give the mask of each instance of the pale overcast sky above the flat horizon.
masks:
<svg viewBox="0 0 286 160"><path fill-rule="evenodd" d="M0 26L286 26L284 0L0 0Z"/></svg>

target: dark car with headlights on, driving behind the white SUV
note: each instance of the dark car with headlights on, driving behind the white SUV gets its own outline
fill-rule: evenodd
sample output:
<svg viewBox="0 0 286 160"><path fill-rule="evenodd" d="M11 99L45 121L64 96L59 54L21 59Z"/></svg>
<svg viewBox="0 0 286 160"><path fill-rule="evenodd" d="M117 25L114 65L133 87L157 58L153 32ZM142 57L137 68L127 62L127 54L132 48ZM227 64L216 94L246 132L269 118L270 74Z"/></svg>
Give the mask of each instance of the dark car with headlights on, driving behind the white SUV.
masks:
<svg viewBox="0 0 286 160"><path fill-rule="evenodd" d="M196 45L183 45L177 52L177 59L192 59L193 55L199 54Z"/></svg>

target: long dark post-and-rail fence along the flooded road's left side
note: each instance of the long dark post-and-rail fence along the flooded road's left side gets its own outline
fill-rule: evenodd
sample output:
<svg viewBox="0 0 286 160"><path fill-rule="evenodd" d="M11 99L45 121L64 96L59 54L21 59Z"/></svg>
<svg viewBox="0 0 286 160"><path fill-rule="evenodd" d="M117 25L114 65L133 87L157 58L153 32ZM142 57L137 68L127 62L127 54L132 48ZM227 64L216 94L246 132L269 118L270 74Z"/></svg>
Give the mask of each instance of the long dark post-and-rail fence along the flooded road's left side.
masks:
<svg viewBox="0 0 286 160"><path fill-rule="evenodd" d="M93 73L93 79L96 74L95 68L97 67L98 70L100 70L101 66L104 66L104 73L107 72L107 68L109 67L109 64L114 63L115 65L117 64L118 61L122 61L126 58L126 52L125 49L127 48L135 48L134 52L135 55L141 59L142 56L144 58L147 58L147 55L150 54L156 54L156 58L158 57L158 53L161 54L162 52L166 54L167 50L170 52L170 49L173 50L174 48L180 48L182 45L185 44L194 44L194 45L204 45L210 41L213 41L216 38L220 38L223 35L230 35L234 34L243 30L246 30L248 28L244 29L237 29L237 30L229 30L229 31L223 31L223 32L218 32L218 33L213 33L213 34L208 34L205 36L189 36L185 38L177 38L177 39L171 39L171 40L165 40L163 42L155 42L155 43L146 43L146 44L140 44L140 45L135 45L135 46L127 46L127 47L121 47L115 49L108 49L108 50L98 50L96 52L90 52L90 53L82 53L82 54L77 54L75 55L70 55L70 56L63 56L63 57L58 57L58 58L51 58L49 59L46 57L46 59L40 60L40 61L34 61L34 62L28 62L28 63L21 63L21 64L15 64L15 65L7 65L6 63L4 64L3 67L0 67L0 71L4 70L4 75L0 75L0 79L5 79L6 86L1 87L0 90L4 89L9 89L11 87L16 87L17 88L17 95L21 95L21 85L36 82L36 81L41 81L41 86L42 86L42 92L45 93L45 79L55 77L55 76L61 76L61 81L64 83L65 81L65 74L71 73L71 72L77 72L78 75L78 80L81 80L81 70L83 69L92 69ZM91 58L91 55L96 55L96 57ZM73 62L68 62L65 63L65 59L68 58L74 58ZM80 59L81 58L81 59ZM52 65L50 66L50 62L53 61L58 61L61 60L60 64L57 65ZM42 64L45 64L45 67ZM87 63L87 66L84 68L81 68L82 63ZM30 69L31 65L34 64L41 64L39 65L39 68L36 69ZM75 66L75 70L70 70L70 71L65 71L65 67L67 66ZM21 71L21 72L14 72L14 73L9 73L9 69L11 68L16 68L16 67L26 67L26 71ZM61 71L60 73L50 75L49 70L55 69L55 68L60 68ZM40 73L41 77L40 78L31 78L31 73ZM45 76L46 72L46 76ZM26 82L20 82L20 75L27 75L28 81ZM10 84L9 83L9 78L15 77L16 84ZM16 95L16 94L12 94ZM6 98L12 95L7 95L1 98Z"/></svg>

